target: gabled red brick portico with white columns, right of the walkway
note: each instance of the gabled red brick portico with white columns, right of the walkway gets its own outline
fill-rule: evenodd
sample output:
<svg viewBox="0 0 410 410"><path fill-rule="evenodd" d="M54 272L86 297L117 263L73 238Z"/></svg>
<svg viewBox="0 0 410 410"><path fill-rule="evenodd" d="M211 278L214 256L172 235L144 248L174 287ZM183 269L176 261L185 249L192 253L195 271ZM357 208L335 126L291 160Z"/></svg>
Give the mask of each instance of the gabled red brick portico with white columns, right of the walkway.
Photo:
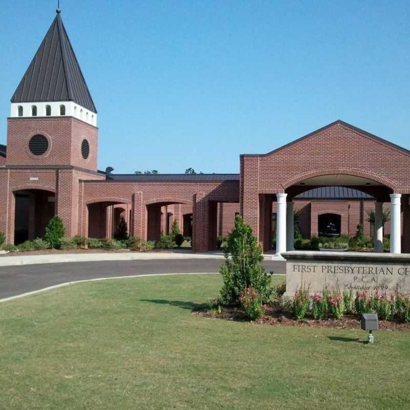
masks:
<svg viewBox="0 0 410 410"><path fill-rule="evenodd" d="M338 156L332 155L335 145ZM369 156L380 160L369 161ZM271 153L241 155L241 211L267 252L272 238L265 216L272 203L268 198L276 202L275 258L280 259L282 253L294 250L294 198L298 194L318 187L354 189L375 198L374 252L383 252L383 204L387 203L390 252L409 252L410 183L405 172L409 167L406 149L336 121ZM258 215L252 212L256 195ZM323 206L323 213L331 213L329 207Z"/></svg>

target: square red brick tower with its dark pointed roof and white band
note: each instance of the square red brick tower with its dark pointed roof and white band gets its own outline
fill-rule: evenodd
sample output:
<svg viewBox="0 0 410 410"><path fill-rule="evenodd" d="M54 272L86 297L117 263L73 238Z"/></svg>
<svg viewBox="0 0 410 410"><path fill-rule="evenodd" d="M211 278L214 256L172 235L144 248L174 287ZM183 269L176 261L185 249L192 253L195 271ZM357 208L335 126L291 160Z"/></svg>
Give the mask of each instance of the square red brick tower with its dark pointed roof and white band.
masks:
<svg viewBox="0 0 410 410"><path fill-rule="evenodd" d="M44 234L51 216L78 229L78 182L97 173L97 110L60 10L11 98L0 180L0 231L8 242ZM4 212L1 212L3 211Z"/></svg>

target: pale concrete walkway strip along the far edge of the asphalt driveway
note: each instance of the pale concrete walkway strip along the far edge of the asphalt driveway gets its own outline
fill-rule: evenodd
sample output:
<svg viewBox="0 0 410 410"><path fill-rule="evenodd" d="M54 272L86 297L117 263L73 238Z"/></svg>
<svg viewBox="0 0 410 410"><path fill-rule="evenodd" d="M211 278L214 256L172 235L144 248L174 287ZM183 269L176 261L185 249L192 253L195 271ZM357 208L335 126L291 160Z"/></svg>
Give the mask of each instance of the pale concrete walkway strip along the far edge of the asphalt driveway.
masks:
<svg viewBox="0 0 410 410"><path fill-rule="evenodd" d="M216 253L172 253L172 252L132 252L132 253L80 253L61 255L18 255L0 258L0 268L19 265L34 265L45 263L69 262L101 262L101 261L131 261L131 260L167 260L167 259L224 259L223 254ZM272 257L265 256L264 260Z"/></svg>

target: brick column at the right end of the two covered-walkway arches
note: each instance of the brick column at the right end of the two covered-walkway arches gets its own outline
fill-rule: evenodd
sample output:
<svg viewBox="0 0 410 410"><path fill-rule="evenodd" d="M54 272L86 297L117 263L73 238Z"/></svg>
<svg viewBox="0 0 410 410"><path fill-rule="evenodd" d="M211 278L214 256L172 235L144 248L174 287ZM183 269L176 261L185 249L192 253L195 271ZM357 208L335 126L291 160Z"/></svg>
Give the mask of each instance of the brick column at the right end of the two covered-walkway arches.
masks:
<svg viewBox="0 0 410 410"><path fill-rule="evenodd" d="M192 249L195 252L209 251L209 201L203 192L193 196L192 209Z"/></svg>

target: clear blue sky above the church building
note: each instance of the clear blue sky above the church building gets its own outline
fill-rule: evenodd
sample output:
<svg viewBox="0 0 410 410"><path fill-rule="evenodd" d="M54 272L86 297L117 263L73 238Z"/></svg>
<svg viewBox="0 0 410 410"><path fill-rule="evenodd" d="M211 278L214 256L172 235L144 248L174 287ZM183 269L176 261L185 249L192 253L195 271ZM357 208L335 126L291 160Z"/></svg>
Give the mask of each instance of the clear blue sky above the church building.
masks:
<svg viewBox="0 0 410 410"><path fill-rule="evenodd" d="M57 1L3 0L0 142ZM61 0L100 169L238 172L336 119L410 148L410 1Z"/></svg>

